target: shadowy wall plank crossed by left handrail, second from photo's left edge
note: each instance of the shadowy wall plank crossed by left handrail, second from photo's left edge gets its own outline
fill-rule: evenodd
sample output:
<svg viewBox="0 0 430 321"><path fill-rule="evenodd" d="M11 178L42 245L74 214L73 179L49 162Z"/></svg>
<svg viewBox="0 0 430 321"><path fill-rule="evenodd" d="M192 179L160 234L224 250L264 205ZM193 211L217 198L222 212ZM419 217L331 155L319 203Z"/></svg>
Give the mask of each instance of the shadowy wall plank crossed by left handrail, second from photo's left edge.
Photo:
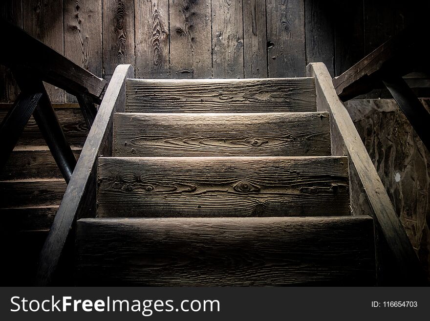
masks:
<svg viewBox="0 0 430 321"><path fill-rule="evenodd" d="M52 49L64 54L63 1L26 0L22 1L26 19L23 28ZM64 90L45 84L51 102L64 102Z"/></svg>

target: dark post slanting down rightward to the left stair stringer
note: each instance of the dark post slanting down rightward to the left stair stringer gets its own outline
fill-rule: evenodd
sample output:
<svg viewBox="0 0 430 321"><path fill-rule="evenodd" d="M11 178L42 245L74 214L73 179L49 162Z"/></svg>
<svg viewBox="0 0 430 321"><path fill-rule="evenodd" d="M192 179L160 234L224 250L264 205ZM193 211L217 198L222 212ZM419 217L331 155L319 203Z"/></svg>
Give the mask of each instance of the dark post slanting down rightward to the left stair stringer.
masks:
<svg viewBox="0 0 430 321"><path fill-rule="evenodd" d="M68 183L76 166L75 155L67 143L63 128L61 128L42 80L34 77L25 69L16 69L13 74L22 92L42 93L39 104L33 111L33 116L66 183Z"/></svg>

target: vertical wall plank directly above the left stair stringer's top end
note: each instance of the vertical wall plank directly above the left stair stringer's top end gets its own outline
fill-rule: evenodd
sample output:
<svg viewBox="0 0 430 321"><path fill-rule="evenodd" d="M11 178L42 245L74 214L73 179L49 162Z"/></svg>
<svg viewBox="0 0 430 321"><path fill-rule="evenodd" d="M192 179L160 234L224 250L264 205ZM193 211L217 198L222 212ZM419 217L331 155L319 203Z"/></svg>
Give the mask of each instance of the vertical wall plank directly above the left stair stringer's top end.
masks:
<svg viewBox="0 0 430 321"><path fill-rule="evenodd" d="M103 0L103 78L118 64L134 66L134 1Z"/></svg>

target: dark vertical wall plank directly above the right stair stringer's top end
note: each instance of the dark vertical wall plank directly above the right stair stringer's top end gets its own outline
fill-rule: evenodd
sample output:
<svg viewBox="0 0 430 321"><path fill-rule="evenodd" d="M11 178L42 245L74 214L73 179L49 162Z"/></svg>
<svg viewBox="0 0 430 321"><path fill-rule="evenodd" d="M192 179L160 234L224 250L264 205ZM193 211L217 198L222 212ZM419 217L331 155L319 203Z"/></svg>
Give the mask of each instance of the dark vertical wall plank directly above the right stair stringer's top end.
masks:
<svg viewBox="0 0 430 321"><path fill-rule="evenodd" d="M334 76L334 22L338 3L305 0L306 59L308 63L322 62Z"/></svg>

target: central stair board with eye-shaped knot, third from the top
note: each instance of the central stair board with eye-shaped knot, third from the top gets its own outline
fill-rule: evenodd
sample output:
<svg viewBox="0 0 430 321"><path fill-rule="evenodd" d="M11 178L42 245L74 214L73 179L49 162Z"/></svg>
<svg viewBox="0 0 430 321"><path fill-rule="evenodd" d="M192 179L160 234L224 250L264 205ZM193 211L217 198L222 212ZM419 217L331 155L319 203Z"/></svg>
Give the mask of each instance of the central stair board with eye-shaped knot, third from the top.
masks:
<svg viewBox="0 0 430 321"><path fill-rule="evenodd" d="M348 161L100 157L99 217L349 215Z"/></svg>

